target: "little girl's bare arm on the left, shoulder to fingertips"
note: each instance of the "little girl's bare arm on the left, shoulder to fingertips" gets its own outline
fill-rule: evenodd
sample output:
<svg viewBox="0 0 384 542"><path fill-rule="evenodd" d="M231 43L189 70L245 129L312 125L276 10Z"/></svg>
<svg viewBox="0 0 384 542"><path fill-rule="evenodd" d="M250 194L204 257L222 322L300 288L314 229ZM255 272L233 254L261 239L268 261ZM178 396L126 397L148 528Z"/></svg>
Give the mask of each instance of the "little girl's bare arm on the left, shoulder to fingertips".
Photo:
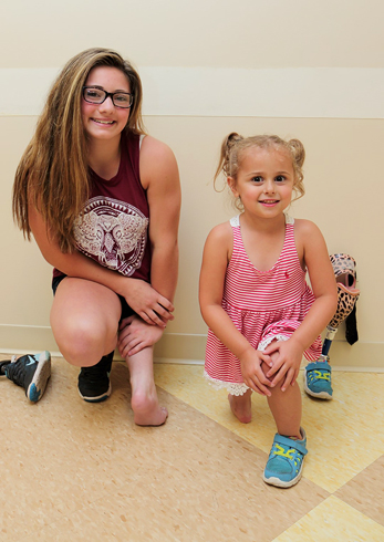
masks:
<svg viewBox="0 0 384 542"><path fill-rule="evenodd" d="M214 228L207 238L203 256L199 286L201 314L219 341L240 359L241 374L247 386L261 395L270 396L270 381L261 369L263 362L271 365L270 357L250 345L221 306L231 250L232 231L229 222Z"/></svg>

